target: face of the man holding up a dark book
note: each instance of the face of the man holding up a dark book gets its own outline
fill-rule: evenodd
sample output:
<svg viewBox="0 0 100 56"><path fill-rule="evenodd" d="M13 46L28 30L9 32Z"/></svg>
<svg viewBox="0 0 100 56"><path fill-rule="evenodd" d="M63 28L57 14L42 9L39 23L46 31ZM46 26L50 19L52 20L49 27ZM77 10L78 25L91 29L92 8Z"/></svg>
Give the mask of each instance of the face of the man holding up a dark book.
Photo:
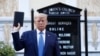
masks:
<svg viewBox="0 0 100 56"><path fill-rule="evenodd" d="M47 25L47 17L44 17L44 16L38 16L36 17L35 19L35 25L36 27L42 31L46 28L46 25Z"/></svg>

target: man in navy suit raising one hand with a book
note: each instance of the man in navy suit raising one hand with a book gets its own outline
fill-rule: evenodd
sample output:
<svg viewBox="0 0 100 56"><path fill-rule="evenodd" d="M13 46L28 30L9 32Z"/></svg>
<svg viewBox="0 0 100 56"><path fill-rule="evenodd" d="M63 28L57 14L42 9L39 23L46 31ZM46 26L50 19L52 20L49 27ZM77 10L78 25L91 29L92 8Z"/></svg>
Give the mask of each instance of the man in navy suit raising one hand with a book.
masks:
<svg viewBox="0 0 100 56"><path fill-rule="evenodd" d="M20 24L14 26L13 43L16 51L25 49L24 56L60 56L57 36L46 30L47 15L34 17L35 30L26 31L19 37ZM41 39L41 40L40 40Z"/></svg>

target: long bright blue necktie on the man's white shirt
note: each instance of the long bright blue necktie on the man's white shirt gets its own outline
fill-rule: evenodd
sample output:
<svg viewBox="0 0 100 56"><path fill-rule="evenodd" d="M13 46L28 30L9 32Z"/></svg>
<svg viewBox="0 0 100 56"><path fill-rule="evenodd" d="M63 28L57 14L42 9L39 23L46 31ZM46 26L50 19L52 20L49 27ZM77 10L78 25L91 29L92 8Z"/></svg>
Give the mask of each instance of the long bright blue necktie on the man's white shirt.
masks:
<svg viewBox="0 0 100 56"><path fill-rule="evenodd" d="M44 41L43 41L43 32L39 33L39 45L38 45L38 55L43 56L43 47L44 47Z"/></svg>

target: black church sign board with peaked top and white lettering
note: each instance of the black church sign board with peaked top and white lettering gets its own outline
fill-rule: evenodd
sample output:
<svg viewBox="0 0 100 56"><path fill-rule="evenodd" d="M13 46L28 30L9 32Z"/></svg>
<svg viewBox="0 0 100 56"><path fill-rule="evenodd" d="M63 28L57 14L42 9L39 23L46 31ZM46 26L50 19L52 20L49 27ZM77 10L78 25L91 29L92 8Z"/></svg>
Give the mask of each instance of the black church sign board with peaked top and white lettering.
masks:
<svg viewBox="0 0 100 56"><path fill-rule="evenodd" d="M61 56L81 56L80 11L81 9L57 3L38 10L48 14L47 30L58 36Z"/></svg>

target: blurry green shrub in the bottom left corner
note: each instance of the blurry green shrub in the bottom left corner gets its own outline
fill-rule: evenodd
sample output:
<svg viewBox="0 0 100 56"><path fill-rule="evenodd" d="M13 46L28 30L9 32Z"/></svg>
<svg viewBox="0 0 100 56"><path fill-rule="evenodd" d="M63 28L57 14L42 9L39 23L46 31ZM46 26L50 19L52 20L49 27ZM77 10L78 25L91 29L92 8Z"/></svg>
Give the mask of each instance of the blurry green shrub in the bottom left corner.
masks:
<svg viewBox="0 0 100 56"><path fill-rule="evenodd" d="M0 56L15 56L15 51L10 45L0 42Z"/></svg>

